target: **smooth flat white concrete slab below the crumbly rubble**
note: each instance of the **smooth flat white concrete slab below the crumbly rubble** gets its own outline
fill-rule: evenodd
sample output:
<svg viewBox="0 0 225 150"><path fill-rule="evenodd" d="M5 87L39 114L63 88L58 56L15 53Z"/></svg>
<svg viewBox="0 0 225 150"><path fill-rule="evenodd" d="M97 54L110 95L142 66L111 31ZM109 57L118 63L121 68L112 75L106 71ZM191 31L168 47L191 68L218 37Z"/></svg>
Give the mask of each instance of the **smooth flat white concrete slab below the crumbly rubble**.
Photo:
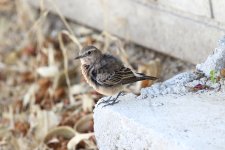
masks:
<svg viewBox="0 0 225 150"><path fill-rule="evenodd" d="M225 94L121 98L94 111L100 150L225 149ZM216 98L215 98L216 97Z"/></svg>

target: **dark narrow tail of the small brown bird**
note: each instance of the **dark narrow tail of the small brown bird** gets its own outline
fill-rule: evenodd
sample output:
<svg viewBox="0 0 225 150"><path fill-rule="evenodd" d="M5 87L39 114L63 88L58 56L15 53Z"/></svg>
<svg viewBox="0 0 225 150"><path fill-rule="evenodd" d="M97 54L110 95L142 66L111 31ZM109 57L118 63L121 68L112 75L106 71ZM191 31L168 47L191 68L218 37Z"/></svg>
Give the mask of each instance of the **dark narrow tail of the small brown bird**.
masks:
<svg viewBox="0 0 225 150"><path fill-rule="evenodd" d="M142 80L157 80L157 79L158 79L157 77L146 76L142 73L135 73L135 76L124 79L122 84L129 84Z"/></svg>

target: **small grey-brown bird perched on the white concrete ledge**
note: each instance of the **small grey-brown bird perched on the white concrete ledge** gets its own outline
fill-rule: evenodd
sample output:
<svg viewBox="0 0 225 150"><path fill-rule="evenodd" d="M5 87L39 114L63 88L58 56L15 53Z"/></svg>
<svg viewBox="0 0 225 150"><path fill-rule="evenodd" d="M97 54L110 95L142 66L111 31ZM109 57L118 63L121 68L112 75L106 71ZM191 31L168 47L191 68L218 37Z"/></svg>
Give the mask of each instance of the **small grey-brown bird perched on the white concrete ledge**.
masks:
<svg viewBox="0 0 225 150"><path fill-rule="evenodd" d="M82 48L75 59L81 62L81 72L86 82L98 93L110 96L107 100L100 102L105 103L103 107L118 103L118 97L124 94L125 85L142 80L158 79L132 71L125 67L120 59L102 53L93 45ZM112 98L115 94L117 94L116 97Z"/></svg>

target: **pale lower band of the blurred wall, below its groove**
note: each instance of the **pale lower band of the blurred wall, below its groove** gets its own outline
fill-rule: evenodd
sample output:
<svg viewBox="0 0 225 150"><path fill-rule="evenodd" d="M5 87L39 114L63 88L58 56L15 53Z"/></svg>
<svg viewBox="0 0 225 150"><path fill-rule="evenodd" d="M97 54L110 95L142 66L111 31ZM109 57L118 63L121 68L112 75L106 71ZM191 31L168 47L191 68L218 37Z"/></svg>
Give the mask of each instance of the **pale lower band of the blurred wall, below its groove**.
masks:
<svg viewBox="0 0 225 150"><path fill-rule="evenodd" d="M38 6L37 1L27 1ZM45 2L55 12L51 3ZM204 60L215 47L215 39L225 32L224 26L210 23L213 21L192 20L131 0L54 2L72 20L192 63Z"/></svg>

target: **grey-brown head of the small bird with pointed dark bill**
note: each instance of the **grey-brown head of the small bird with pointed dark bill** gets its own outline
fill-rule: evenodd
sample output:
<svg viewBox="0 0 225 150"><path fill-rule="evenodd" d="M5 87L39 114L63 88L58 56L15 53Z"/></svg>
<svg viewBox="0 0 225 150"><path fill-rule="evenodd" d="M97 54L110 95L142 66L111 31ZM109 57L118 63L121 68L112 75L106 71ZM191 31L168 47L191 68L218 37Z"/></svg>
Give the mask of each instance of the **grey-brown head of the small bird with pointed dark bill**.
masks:
<svg viewBox="0 0 225 150"><path fill-rule="evenodd" d="M82 64L90 65L101 57L102 53L94 46L86 46L79 52L79 56L75 59L80 59Z"/></svg>

